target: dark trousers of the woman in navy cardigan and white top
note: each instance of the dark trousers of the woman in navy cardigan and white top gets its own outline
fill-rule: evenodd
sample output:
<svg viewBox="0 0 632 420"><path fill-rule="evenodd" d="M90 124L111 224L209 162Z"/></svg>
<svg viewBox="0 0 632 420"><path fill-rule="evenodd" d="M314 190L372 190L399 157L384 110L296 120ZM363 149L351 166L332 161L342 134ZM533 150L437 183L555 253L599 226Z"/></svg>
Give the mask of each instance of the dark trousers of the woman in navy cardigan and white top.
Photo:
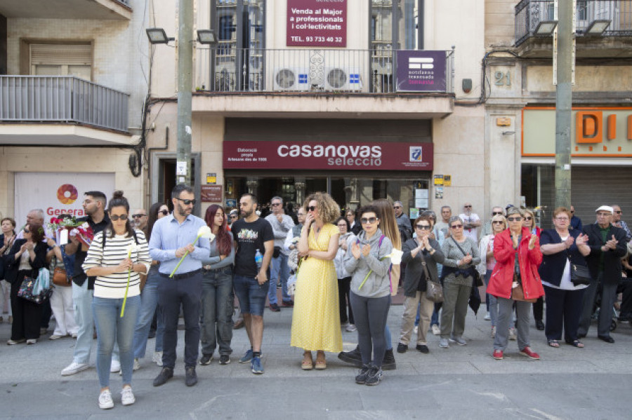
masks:
<svg viewBox="0 0 632 420"><path fill-rule="evenodd" d="M561 340L562 327L564 341L572 343L578 339L577 328L579 328L579 316L581 316L582 304L584 304L585 290L560 290L544 286L544 293L546 294L544 334L546 334L547 339Z"/></svg>

